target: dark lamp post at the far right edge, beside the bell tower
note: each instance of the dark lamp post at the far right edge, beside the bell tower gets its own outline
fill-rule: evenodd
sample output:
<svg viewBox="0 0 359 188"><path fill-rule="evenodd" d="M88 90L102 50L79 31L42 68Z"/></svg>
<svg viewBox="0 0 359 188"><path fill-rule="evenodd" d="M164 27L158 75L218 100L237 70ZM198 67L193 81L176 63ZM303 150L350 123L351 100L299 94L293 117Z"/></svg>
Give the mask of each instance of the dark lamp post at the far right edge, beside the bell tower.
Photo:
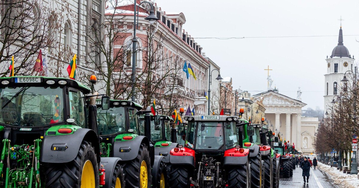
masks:
<svg viewBox="0 0 359 188"><path fill-rule="evenodd" d="M347 72L351 72L352 74L354 74L354 82L353 82L353 86L354 86L354 99L353 99L353 106L354 106L354 115L353 115L353 120L354 120L354 125L356 125L356 67L354 68L354 72L351 70L347 70L344 73L344 77L341 80L342 82L344 82L345 84L345 88L346 88L346 84L348 83L348 78L346 78L345 74ZM351 161L351 171L350 174L358 174L358 163L356 162L356 151L353 151L353 161Z"/></svg>

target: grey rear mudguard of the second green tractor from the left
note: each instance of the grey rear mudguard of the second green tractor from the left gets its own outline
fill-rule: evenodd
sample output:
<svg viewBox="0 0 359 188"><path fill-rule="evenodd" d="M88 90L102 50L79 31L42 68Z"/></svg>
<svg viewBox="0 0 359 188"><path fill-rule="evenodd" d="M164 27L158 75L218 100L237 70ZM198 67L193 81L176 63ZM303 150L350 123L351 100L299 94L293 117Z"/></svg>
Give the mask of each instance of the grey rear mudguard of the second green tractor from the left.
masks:
<svg viewBox="0 0 359 188"><path fill-rule="evenodd" d="M140 150L141 143L147 143L147 149L150 149L148 138L144 136L136 136L134 139L128 141L115 141L113 143L113 156L120 157L122 161L135 159Z"/></svg>

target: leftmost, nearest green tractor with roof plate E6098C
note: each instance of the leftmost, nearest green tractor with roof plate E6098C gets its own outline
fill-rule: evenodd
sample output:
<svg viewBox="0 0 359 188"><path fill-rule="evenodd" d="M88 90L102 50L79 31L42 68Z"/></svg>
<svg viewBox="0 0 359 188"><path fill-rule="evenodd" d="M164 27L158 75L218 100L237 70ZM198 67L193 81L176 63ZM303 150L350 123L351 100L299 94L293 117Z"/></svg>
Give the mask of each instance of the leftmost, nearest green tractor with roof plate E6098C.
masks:
<svg viewBox="0 0 359 188"><path fill-rule="evenodd" d="M0 187L123 187L121 159L100 155L90 92L68 78L0 78Z"/></svg>

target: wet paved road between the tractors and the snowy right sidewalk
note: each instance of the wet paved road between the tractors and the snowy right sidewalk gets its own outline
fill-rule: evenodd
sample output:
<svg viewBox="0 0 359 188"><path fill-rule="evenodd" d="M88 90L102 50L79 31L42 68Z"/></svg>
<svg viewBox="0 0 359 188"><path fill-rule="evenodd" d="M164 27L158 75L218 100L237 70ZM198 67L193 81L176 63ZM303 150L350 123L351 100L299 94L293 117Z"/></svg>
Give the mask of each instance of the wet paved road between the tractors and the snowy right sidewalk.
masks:
<svg viewBox="0 0 359 188"><path fill-rule="evenodd" d="M338 188L337 185L331 183L329 176L323 173L318 168L311 168L309 183L304 184L302 169L295 168L293 170L293 177L280 178L280 188Z"/></svg>

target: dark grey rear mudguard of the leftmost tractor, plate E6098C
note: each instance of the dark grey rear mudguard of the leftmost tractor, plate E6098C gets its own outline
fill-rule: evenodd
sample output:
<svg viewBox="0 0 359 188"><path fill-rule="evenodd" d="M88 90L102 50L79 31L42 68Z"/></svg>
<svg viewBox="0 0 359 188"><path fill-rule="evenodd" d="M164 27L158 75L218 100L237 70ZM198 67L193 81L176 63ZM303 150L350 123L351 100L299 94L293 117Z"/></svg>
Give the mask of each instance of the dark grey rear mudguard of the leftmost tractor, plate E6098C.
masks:
<svg viewBox="0 0 359 188"><path fill-rule="evenodd" d="M73 134L45 135L42 141L40 161L50 163L70 162L77 156L83 140L91 142L99 156L100 148L96 133L91 129L80 128ZM99 157L97 158L99 162Z"/></svg>

